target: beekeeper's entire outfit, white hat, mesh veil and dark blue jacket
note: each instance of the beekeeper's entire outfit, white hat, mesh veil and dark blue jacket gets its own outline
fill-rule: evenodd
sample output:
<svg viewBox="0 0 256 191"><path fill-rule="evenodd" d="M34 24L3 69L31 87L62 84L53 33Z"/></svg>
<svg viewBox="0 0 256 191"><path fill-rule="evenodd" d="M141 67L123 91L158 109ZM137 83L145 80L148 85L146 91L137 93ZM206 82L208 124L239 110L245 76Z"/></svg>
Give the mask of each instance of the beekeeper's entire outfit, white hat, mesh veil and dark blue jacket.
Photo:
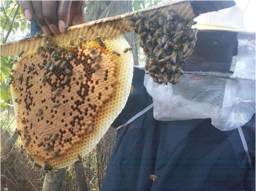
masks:
<svg viewBox="0 0 256 191"><path fill-rule="evenodd" d="M196 18L179 83L134 68L101 191L255 190L255 33L242 14L234 6Z"/></svg>

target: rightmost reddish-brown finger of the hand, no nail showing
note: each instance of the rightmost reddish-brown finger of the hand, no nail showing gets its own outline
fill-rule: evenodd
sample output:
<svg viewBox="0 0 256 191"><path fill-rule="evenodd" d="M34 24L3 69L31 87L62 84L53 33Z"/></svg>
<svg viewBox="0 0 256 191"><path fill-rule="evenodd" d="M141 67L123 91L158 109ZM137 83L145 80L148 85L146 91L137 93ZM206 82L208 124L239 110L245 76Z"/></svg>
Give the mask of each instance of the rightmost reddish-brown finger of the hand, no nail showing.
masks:
<svg viewBox="0 0 256 191"><path fill-rule="evenodd" d="M74 1L70 8L69 25L86 23L83 1Z"/></svg>

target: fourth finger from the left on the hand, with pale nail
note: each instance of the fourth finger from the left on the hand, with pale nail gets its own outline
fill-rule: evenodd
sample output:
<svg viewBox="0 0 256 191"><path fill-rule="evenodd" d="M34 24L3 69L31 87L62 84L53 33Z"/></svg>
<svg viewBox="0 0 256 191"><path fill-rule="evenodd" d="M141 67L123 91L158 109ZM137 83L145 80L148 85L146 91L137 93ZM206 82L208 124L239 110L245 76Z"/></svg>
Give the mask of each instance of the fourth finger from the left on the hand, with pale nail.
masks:
<svg viewBox="0 0 256 191"><path fill-rule="evenodd" d="M72 1L58 1L58 28L61 33L69 25L69 12Z"/></svg>

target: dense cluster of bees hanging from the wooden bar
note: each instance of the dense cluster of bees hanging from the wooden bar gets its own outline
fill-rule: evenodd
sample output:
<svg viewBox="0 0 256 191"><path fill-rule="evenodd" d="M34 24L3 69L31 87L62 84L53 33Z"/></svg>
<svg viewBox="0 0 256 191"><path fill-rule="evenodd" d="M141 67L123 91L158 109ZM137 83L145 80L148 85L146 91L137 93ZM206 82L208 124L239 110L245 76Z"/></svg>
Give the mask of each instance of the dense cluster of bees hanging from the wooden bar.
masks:
<svg viewBox="0 0 256 191"><path fill-rule="evenodd" d="M147 73L158 84L179 82L183 74L181 66L196 44L198 30L191 29L196 22L181 20L172 10L168 10L167 15L156 10L149 17L137 12L127 19L140 35L139 45L146 55Z"/></svg>

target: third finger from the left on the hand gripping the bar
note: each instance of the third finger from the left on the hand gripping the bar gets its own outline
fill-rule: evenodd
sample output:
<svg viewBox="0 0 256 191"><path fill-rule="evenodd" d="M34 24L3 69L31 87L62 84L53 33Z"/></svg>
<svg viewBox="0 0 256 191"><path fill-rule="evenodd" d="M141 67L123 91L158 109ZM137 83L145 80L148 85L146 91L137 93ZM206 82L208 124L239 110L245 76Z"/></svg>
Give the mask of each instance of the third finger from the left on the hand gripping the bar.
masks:
<svg viewBox="0 0 256 191"><path fill-rule="evenodd" d="M44 20L53 33L58 33L57 1L42 1Z"/></svg>

